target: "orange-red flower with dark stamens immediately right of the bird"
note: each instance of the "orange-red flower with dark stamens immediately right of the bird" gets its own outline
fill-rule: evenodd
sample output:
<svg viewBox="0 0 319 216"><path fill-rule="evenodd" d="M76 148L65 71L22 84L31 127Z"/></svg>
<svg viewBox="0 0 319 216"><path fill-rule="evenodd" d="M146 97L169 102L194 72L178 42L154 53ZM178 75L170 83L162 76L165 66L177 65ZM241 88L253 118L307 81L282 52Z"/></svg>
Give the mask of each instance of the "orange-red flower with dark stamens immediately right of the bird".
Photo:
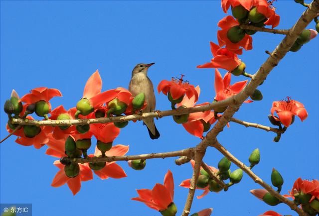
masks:
<svg viewBox="0 0 319 216"><path fill-rule="evenodd" d="M162 92L164 95L168 93L171 95L173 100L180 99L185 94L188 98L195 96L195 102L198 101L198 94L193 85L190 85L188 82L183 80L183 76L181 75L180 79L172 78L171 81L162 80L158 86L158 92Z"/></svg>

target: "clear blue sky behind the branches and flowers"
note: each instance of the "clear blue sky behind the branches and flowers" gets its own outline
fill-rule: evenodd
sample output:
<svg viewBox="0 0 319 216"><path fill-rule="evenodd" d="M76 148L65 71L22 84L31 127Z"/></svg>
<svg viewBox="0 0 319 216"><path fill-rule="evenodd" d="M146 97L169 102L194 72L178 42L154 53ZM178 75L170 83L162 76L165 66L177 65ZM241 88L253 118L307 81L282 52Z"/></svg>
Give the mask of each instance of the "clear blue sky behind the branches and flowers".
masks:
<svg viewBox="0 0 319 216"><path fill-rule="evenodd" d="M294 1L276 1L281 16L277 28L290 28L305 9ZM99 69L103 90L128 87L131 71L137 63L156 62L149 70L155 86L163 79L183 73L193 85L199 85L199 102L211 102L214 70L196 69L210 60L209 41L217 43L217 22L226 14L219 0L213 1L1 1L1 91L0 136L7 132L7 117L2 111L4 101L15 89L20 96L32 88L57 88L63 98L54 98L52 107L76 105L88 77ZM315 28L312 22L311 28ZM253 50L240 58L247 72L255 73L267 59L265 50L273 50L282 35L253 35ZM304 122L296 118L279 143L274 134L231 123L219 140L240 160L260 148L261 163L254 172L270 183L273 167L285 179L283 192L291 189L298 177L319 177L319 40L306 44L297 53L288 53L259 89L261 102L245 104L235 117L269 125L267 115L273 101L290 96L302 102L309 112ZM221 70L222 74L226 71ZM243 77L233 81L244 80ZM164 95L157 94L157 109L170 105ZM156 121L160 139L151 140L141 122L121 131L115 144L130 145L129 154L165 152L195 146L200 139L188 134L171 117ZM167 169L173 172L174 202L181 213L188 193L178 187L192 175L190 164L176 166L174 159L148 161L143 171L134 171L126 162L119 162L128 177L82 183L81 191L73 196L65 185L50 186L58 169L55 158L44 154L46 147L36 150L14 142L14 137L0 145L0 203L31 203L34 216L159 216L144 204L131 201L135 189L151 189L162 183ZM92 148L93 149L93 148ZM92 150L93 151L93 150ZM217 166L222 155L208 149L204 158ZM236 169L234 165L232 170ZM296 215L281 204L270 207L254 198L249 190L260 188L247 175L242 182L219 194L210 193L194 200L191 212L214 208L214 216L257 216L267 210L283 215ZM201 191L200 191L201 193ZM196 192L196 195L200 193Z"/></svg>

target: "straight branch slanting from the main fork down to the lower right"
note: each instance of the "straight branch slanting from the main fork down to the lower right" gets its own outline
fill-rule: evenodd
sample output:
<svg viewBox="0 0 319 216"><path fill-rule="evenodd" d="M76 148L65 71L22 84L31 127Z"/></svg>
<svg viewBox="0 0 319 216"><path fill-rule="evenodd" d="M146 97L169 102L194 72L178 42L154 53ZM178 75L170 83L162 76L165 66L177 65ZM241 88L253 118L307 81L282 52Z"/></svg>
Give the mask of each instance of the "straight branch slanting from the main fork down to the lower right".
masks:
<svg viewBox="0 0 319 216"><path fill-rule="evenodd" d="M307 216L307 214L300 209L293 201L288 200L287 198L280 195L277 191L275 191L270 185L265 183L261 178L259 178L249 167L247 167L243 162L238 160L235 156L233 156L227 149L224 148L217 140L215 143L211 145L216 148L220 153L222 153L228 160L233 162L236 166L242 169L247 175L252 178L257 184L265 188L271 195L278 198L281 202L287 204L292 210L295 210L300 216Z"/></svg>

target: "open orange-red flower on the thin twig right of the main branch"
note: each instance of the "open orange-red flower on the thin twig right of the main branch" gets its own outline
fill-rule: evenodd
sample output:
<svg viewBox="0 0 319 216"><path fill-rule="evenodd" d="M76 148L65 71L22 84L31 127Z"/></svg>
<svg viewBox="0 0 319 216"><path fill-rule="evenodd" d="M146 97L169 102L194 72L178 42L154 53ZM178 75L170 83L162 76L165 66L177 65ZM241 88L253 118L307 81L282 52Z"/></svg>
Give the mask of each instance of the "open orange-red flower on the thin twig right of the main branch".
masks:
<svg viewBox="0 0 319 216"><path fill-rule="evenodd" d="M291 100L290 97L287 97L286 101L273 102L273 107L270 111L275 120L280 121L286 127L292 123L294 115L297 115L302 121L308 117L305 106L298 101ZM278 117L274 116L275 111Z"/></svg>

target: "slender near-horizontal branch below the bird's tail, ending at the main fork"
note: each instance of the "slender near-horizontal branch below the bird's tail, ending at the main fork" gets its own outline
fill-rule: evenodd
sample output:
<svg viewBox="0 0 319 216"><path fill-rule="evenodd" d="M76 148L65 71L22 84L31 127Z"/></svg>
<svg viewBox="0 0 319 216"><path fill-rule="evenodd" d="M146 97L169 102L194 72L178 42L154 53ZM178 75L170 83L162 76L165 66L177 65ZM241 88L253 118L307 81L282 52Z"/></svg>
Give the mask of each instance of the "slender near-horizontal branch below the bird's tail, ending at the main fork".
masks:
<svg viewBox="0 0 319 216"><path fill-rule="evenodd" d="M88 158L73 158L70 159L74 163L89 163L89 162L112 162L112 161L129 161L137 159L152 159L152 158L167 158L187 156L192 157L194 154L194 148L186 148L179 151L163 152L163 153L151 153L151 154L139 154L139 155L126 155L126 156L110 156L110 157L88 157Z"/></svg>

